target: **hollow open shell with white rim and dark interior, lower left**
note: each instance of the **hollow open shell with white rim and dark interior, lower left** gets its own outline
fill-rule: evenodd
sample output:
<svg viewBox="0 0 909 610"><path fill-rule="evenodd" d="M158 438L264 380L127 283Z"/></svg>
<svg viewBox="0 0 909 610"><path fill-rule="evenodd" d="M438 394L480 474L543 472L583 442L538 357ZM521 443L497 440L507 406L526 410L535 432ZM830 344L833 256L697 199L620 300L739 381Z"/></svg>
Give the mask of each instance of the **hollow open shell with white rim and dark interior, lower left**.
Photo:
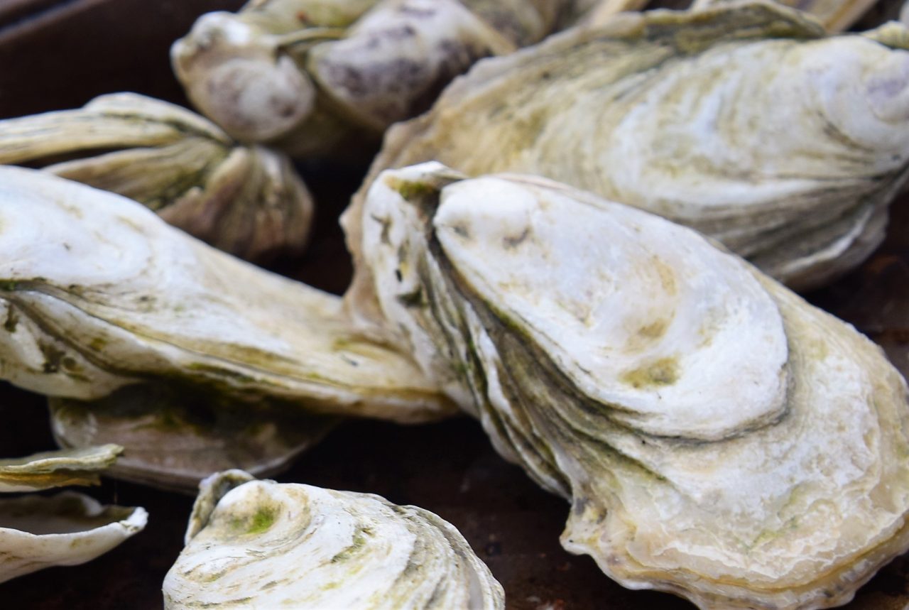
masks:
<svg viewBox="0 0 909 610"><path fill-rule="evenodd" d="M141 532L147 519L143 508L102 506L73 492L0 499L0 582L85 564Z"/></svg>

